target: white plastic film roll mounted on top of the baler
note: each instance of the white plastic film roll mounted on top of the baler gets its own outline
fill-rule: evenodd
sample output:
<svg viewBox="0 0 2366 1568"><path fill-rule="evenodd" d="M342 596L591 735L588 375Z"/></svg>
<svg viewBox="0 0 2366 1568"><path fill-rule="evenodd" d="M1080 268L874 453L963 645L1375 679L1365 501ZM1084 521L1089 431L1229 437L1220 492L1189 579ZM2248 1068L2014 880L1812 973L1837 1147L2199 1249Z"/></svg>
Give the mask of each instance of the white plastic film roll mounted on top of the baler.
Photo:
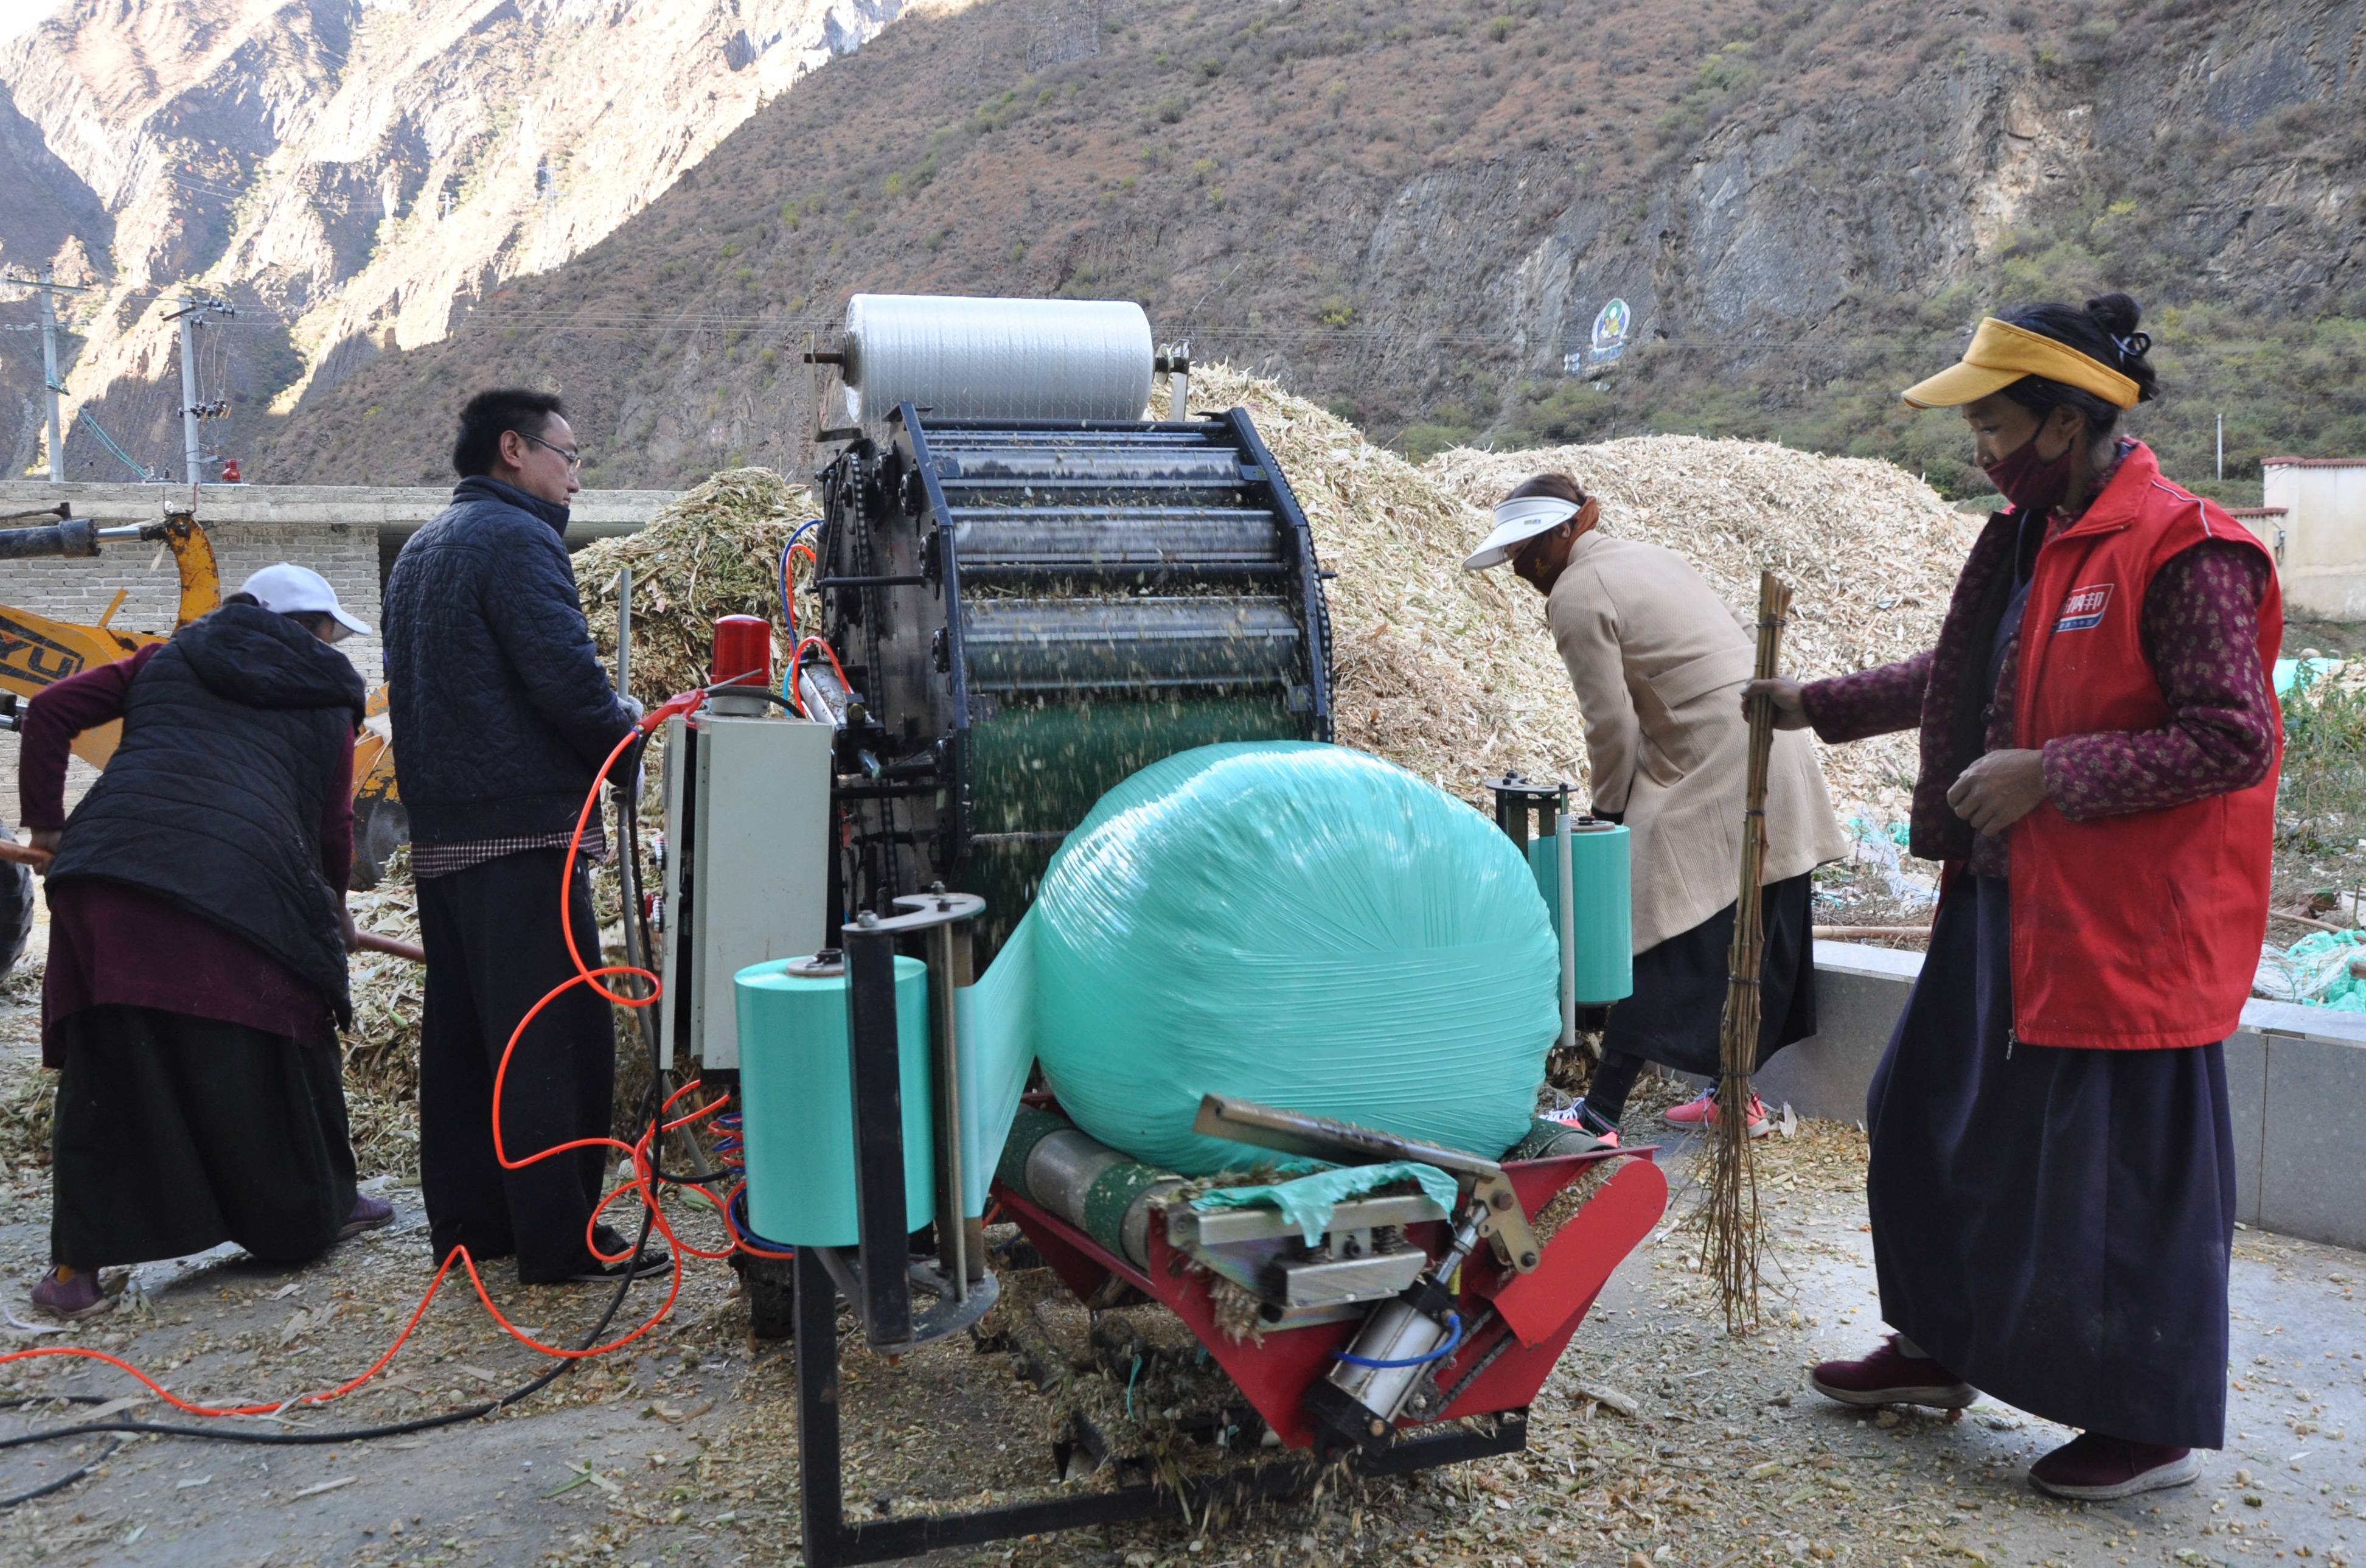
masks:
<svg viewBox="0 0 2366 1568"><path fill-rule="evenodd" d="M1140 419L1150 317L1133 300L856 293L845 381L856 421L899 402L937 419Z"/></svg>

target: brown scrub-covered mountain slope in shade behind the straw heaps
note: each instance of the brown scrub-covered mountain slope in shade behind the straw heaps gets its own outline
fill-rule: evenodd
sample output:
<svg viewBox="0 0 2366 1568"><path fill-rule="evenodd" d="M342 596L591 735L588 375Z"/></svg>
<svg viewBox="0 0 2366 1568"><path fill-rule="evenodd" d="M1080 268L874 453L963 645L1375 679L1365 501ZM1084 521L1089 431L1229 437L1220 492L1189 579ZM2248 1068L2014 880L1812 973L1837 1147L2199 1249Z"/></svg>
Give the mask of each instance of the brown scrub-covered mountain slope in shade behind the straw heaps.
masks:
<svg viewBox="0 0 2366 1568"><path fill-rule="evenodd" d="M1131 296L1413 454L1640 430L1907 461L1990 307L2129 289L2136 428L2229 494L2366 445L2366 0L977 0L897 21L547 274L253 430L442 471L457 395L575 397L599 482L795 468L859 289ZM1588 331L1625 300L1607 374ZM1576 369L1566 374L1571 355ZM317 381L315 381L317 385ZM2252 480L2255 487L2255 480Z"/></svg>

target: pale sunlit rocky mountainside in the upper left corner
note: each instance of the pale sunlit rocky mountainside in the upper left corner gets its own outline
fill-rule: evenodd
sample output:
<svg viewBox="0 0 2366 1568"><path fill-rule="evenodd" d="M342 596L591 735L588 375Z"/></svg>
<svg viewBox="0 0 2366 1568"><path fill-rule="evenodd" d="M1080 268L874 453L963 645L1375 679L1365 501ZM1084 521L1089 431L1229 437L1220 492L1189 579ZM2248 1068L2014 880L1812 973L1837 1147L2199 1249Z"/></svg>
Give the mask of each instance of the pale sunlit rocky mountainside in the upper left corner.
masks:
<svg viewBox="0 0 2366 1568"><path fill-rule="evenodd" d="M199 352L201 400L232 404L208 447L237 454L606 237L901 2L66 0L0 45L0 265L92 286L69 385L177 475L182 284L239 307ZM0 445L21 466L38 359L12 338ZM121 478L88 433L69 459Z"/></svg>

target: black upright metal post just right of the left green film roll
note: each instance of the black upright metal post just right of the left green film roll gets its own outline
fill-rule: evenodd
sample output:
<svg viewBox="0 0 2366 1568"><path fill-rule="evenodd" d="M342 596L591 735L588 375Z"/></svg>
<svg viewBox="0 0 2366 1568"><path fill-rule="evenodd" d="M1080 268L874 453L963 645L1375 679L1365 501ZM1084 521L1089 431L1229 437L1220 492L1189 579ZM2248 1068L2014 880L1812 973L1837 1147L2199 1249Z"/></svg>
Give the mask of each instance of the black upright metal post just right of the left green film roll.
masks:
<svg viewBox="0 0 2366 1568"><path fill-rule="evenodd" d="M871 1343L904 1343L911 1339L911 1220L904 1209L904 1057L892 932L847 929L847 1015L864 1287L854 1310Z"/></svg>

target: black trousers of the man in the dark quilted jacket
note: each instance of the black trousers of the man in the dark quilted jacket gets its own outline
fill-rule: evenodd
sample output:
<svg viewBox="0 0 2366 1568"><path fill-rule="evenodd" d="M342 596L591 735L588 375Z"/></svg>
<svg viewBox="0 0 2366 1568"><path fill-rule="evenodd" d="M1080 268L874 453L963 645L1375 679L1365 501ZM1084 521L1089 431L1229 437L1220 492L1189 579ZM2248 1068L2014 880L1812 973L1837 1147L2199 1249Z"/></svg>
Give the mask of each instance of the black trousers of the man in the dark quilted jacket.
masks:
<svg viewBox="0 0 2366 1568"><path fill-rule="evenodd" d="M558 929L563 849L525 849L419 882L428 953L419 1026L419 1192L440 1261L518 1258L528 1282L594 1265L584 1220L615 1149L592 1147L504 1171L492 1149L492 1076L518 1019L575 974ZM592 885L568 889L575 946L599 967ZM606 1138L615 1100L615 1019L589 986L544 1007L502 1078L502 1145L525 1159L575 1138Z"/></svg>

